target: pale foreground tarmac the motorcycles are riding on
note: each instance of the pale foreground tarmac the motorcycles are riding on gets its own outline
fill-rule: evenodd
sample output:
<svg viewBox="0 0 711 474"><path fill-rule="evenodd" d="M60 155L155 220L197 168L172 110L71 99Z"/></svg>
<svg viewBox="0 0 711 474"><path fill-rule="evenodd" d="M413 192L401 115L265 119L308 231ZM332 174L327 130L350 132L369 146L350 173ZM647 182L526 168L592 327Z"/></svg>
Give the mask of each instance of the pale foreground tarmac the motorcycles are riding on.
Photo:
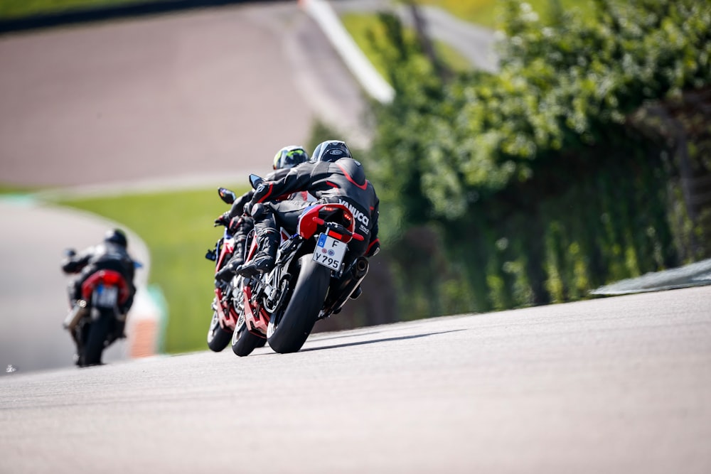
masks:
<svg viewBox="0 0 711 474"><path fill-rule="evenodd" d="M0 472L711 472L711 287L0 377Z"/></svg>

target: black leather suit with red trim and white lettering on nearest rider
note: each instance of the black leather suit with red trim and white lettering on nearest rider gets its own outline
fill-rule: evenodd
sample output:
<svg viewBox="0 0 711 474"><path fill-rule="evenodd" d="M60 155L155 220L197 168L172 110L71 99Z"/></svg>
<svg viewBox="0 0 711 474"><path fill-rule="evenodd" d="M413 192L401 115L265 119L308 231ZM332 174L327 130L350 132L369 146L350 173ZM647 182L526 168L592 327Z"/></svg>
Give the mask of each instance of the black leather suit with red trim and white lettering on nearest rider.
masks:
<svg viewBox="0 0 711 474"><path fill-rule="evenodd" d="M378 241L378 206L380 201L370 181L365 179L363 166L353 158L334 162L301 163L277 181L265 181L252 196L252 216L257 232L276 228L277 223L296 232L299 215L313 203L294 200L274 201L283 195L307 191L319 203L348 205L355 218L355 232L363 235L363 242L351 241L349 248L355 257L370 257L380 247Z"/></svg>

